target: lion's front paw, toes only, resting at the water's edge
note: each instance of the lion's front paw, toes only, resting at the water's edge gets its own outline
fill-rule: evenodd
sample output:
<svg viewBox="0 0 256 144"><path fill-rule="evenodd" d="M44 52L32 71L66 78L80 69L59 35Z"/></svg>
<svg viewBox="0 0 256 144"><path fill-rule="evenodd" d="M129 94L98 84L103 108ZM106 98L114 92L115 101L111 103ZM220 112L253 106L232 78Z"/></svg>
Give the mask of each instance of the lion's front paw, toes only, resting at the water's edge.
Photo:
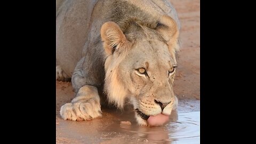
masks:
<svg viewBox="0 0 256 144"><path fill-rule="evenodd" d="M71 121L84 121L101 117L100 104L94 99L86 102L66 103L60 108L60 115L63 119Z"/></svg>

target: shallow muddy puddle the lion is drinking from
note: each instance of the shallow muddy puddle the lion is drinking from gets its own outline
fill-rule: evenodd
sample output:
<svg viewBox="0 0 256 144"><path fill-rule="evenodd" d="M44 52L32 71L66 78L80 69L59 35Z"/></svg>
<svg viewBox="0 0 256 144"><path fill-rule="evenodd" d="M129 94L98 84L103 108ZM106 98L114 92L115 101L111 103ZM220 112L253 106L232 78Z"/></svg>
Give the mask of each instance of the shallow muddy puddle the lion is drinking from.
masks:
<svg viewBox="0 0 256 144"><path fill-rule="evenodd" d="M178 113L174 111L170 122L159 127L137 125L134 112L102 109L103 117L92 121L59 120L58 137L66 143L200 143L200 111ZM130 121L131 125L120 125ZM74 141L76 140L76 141Z"/></svg>

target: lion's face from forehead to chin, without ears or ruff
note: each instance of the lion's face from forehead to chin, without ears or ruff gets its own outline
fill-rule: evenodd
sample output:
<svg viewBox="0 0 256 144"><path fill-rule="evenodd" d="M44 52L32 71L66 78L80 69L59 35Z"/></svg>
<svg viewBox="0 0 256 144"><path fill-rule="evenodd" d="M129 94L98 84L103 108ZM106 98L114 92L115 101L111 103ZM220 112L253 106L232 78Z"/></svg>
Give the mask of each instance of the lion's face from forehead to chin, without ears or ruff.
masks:
<svg viewBox="0 0 256 144"><path fill-rule="evenodd" d="M147 116L171 114L175 67L166 43L157 39L143 39L134 44L120 63L120 78L131 94L134 109L138 109L144 120Z"/></svg>

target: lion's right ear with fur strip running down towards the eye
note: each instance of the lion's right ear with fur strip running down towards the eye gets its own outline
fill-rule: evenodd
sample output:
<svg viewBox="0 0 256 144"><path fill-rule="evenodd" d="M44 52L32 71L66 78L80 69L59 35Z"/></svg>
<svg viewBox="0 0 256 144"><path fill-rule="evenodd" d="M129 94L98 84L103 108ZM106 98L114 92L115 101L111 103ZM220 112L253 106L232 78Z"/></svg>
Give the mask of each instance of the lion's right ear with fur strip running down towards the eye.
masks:
<svg viewBox="0 0 256 144"><path fill-rule="evenodd" d="M177 23L168 15L163 15L163 17L159 19L156 30L165 39L169 47L169 51L171 52L171 56L176 63L175 54L179 51L179 29Z"/></svg>

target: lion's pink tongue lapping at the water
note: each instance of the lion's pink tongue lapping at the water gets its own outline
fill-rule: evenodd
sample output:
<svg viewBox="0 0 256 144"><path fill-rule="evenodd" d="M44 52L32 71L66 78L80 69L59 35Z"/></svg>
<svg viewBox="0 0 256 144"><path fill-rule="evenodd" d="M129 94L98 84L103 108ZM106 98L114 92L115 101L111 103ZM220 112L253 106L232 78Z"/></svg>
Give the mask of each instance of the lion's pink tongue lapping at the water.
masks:
<svg viewBox="0 0 256 144"><path fill-rule="evenodd" d="M158 114L156 116L149 116L148 118L148 124L151 126L158 126L163 125L169 120L169 116L166 116L164 114Z"/></svg>

